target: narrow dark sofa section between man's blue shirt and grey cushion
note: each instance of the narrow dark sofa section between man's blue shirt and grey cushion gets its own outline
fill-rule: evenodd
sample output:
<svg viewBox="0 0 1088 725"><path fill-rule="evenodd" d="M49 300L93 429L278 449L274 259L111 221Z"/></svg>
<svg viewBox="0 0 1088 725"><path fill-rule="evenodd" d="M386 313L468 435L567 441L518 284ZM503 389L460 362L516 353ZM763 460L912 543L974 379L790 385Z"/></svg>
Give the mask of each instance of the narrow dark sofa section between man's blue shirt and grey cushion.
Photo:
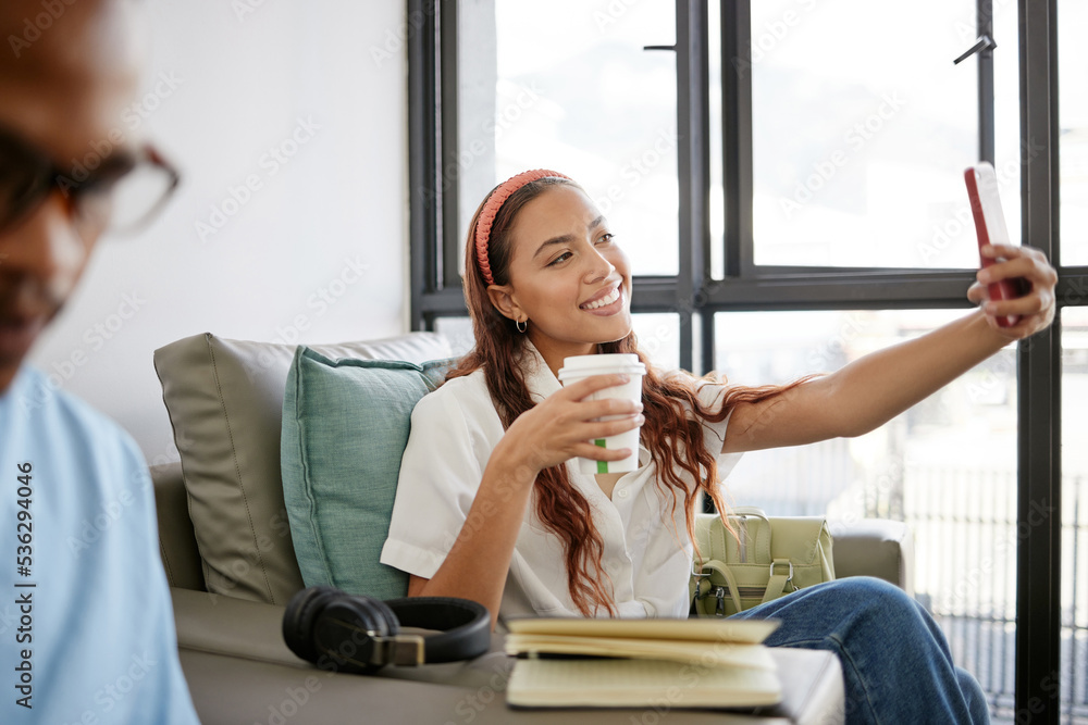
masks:
<svg viewBox="0 0 1088 725"><path fill-rule="evenodd" d="M159 553L172 587L203 591L203 570L197 549L182 464L151 466L154 509L159 520Z"/></svg>

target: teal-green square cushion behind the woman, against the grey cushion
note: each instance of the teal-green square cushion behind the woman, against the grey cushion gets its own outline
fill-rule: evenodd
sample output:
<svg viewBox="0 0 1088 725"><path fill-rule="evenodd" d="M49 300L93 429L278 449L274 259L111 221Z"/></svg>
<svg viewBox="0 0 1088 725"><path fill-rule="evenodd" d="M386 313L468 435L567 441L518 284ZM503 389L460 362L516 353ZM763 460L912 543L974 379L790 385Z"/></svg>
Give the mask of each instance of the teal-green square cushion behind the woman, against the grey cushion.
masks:
<svg viewBox="0 0 1088 725"><path fill-rule="evenodd" d="M283 498L306 586L404 597L408 574L379 562L411 411L450 360L417 365L295 352L283 400Z"/></svg>

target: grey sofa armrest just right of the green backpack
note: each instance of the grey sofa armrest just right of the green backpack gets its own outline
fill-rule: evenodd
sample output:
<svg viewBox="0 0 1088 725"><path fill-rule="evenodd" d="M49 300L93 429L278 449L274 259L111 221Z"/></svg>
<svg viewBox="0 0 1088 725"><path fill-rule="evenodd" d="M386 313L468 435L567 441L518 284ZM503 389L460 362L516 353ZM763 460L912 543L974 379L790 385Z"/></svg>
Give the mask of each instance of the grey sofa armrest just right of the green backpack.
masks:
<svg viewBox="0 0 1088 725"><path fill-rule="evenodd" d="M875 576L914 596L914 537L901 521L830 522L834 576Z"/></svg>

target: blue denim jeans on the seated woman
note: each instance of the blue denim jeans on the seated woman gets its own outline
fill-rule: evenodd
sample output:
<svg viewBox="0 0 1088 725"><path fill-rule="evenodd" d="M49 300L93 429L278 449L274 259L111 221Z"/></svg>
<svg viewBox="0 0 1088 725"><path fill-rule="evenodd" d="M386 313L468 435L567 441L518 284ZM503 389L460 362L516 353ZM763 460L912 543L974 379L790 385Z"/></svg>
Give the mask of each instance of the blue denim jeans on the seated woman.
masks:
<svg viewBox="0 0 1088 725"><path fill-rule="evenodd" d="M842 663L846 723L989 723L982 688L952 663L944 633L901 589L871 577L808 587L734 615L776 618L770 647Z"/></svg>

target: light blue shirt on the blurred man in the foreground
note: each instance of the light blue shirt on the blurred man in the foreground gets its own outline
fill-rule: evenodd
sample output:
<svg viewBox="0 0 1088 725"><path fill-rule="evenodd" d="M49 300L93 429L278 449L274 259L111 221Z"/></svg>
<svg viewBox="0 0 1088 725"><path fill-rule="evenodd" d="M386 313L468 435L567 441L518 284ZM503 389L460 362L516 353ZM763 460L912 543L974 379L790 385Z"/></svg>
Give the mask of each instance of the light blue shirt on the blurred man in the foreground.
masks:
<svg viewBox="0 0 1088 725"><path fill-rule="evenodd" d="M144 459L26 366L0 395L0 698L2 723L199 722Z"/></svg>

